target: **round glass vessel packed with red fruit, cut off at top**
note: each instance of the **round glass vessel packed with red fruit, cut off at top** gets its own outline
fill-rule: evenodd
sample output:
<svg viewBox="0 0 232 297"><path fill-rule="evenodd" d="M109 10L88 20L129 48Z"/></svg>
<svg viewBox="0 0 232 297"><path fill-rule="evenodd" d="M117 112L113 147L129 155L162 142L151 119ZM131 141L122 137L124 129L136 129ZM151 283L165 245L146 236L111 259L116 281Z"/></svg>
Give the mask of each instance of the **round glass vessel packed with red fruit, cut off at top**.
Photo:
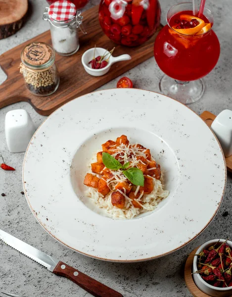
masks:
<svg viewBox="0 0 232 297"><path fill-rule="evenodd" d="M160 24L158 0L101 0L99 22L116 44L136 47L146 42Z"/></svg>

